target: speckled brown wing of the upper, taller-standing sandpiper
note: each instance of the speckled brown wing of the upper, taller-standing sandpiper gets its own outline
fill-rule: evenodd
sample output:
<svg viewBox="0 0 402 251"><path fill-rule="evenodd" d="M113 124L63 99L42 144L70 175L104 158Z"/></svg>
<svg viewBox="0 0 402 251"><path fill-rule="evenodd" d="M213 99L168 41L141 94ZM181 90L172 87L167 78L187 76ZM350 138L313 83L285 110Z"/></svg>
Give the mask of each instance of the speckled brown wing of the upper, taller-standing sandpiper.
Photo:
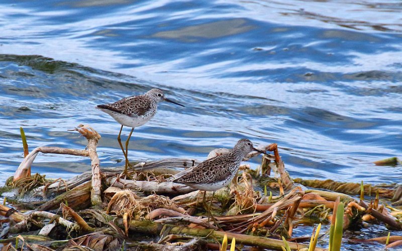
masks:
<svg viewBox="0 0 402 251"><path fill-rule="evenodd" d="M143 116L151 108L151 100L147 96L131 96L120 99L110 104L97 106L100 109L108 109L123 115Z"/></svg>

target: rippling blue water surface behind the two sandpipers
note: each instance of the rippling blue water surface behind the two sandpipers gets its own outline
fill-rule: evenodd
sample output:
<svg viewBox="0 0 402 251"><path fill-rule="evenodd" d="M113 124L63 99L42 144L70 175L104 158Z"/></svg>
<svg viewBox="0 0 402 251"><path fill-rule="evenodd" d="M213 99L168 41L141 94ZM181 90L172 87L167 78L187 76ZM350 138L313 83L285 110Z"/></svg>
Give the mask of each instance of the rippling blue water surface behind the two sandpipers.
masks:
<svg viewBox="0 0 402 251"><path fill-rule="evenodd" d="M372 162L402 149L401 11L400 1L2 1L0 184L23 159L19 127L30 150L82 149L67 130L90 124L101 165L121 165L120 124L94 106L153 87L186 107L160 104L134 131L132 160L204 159L246 137L277 143L292 177L399 182L401 166ZM33 172L89 168L40 155Z"/></svg>

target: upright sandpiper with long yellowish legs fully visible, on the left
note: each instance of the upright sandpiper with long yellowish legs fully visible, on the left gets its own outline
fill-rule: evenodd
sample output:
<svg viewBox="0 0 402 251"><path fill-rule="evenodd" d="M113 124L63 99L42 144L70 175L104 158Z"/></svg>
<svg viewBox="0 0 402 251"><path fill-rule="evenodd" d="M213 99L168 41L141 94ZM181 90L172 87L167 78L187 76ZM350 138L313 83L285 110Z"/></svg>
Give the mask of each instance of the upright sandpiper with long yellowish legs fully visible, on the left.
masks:
<svg viewBox="0 0 402 251"><path fill-rule="evenodd" d="M133 134L134 128L142 126L143 124L148 122L151 118L153 118L158 108L158 103L163 100L184 107L184 105L173 102L172 100L166 98L163 91L156 88L149 90L147 93L143 95L125 97L114 103L99 104L98 106L96 106L96 108L105 111L122 125L117 140L126 159L126 166L124 171L126 174L127 174L127 167L128 165L130 165L127 157L128 145L130 137ZM122 141L120 139L123 126L132 128L129 137L127 138L126 141L126 152L124 151Z"/></svg>

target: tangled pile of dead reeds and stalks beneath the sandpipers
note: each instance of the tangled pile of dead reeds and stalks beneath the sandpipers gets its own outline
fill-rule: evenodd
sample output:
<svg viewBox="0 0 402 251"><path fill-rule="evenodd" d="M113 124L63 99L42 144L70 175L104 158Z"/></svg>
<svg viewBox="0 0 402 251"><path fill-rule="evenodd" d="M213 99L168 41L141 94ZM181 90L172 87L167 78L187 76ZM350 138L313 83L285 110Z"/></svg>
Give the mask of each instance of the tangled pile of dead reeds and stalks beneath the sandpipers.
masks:
<svg viewBox="0 0 402 251"><path fill-rule="evenodd" d="M188 170L200 163L197 160L165 159L132 163L127 171L125 167L101 170L96 154L100 135L89 126L80 125L73 131L88 140L87 150L38 147L29 154L25 151L15 176L2 188L3 192L18 189L15 196L5 198L11 206L0 205L2 250L220 249L225 247L220 244L225 235L226 243L235 239L228 248L324 250L316 247L318 243L340 250L342 230L362 221L402 228L402 211L380 202L381 197L398 203L400 188L292 180L276 144L259 149L273 155L263 156L257 170L242 165L230 186L213 197L213 192L172 182L180 168ZM22 136L27 149L23 131ZM91 171L66 181L31 176L31 165L40 152L89 157ZM225 153L215 151L212 156ZM244 161L258 154L251 152ZM271 177L271 171L279 178ZM360 200L350 196L359 192ZM364 195L370 196L370 201L365 201ZM210 203L212 218L207 213ZM316 226L319 222L329 225L328 233L320 235L320 224L312 235L293 236L298 225ZM378 241L391 247L401 239L349 241Z"/></svg>

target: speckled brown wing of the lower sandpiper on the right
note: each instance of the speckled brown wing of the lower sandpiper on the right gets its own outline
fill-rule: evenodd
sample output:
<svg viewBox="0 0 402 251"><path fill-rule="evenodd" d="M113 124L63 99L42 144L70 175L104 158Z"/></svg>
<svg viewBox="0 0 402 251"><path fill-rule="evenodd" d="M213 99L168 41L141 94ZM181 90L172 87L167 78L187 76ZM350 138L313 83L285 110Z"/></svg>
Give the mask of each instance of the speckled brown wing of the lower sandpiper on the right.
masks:
<svg viewBox="0 0 402 251"><path fill-rule="evenodd" d="M234 165L226 156L218 156L203 161L198 166L193 167L191 171L173 180L173 182L182 184L219 182L225 180L231 174L230 169Z"/></svg>

